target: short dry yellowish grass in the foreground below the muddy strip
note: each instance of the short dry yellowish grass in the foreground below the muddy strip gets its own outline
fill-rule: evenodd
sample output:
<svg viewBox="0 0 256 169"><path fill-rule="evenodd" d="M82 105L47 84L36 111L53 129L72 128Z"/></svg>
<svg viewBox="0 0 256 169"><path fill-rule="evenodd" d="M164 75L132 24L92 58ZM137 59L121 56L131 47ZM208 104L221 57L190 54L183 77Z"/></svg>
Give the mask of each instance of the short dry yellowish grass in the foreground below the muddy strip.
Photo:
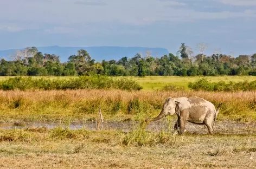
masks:
<svg viewBox="0 0 256 169"><path fill-rule="evenodd" d="M148 133L153 145L125 146L121 132L0 131L1 168L255 168L255 134ZM11 140L12 139L12 140ZM168 141L171 140L171 141ZM170 144L171 143L171 144Z"/></svg>

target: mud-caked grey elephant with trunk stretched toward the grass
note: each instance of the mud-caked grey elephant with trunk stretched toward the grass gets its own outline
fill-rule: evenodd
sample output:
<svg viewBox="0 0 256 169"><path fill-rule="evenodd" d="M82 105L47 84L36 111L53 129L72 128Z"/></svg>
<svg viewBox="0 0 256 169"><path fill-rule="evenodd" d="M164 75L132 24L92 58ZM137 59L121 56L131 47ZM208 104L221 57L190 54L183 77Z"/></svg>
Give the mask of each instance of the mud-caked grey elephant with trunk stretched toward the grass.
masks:
<svg viewBox="0 0 256 169"><path fill-rule="evenodd" d="M164 116L177 114L178 120L174 125L174 129L176 131L180 127L179 134L184 134L187 121L193 124L206 125L209 133L213 134L213 125L221 105L222 103L219 104L216 110L213 103L196 96L168 98L163 104L161 113L150 121L160 120ZM146 119L146 121L149 121L149 119Z"/></svg>

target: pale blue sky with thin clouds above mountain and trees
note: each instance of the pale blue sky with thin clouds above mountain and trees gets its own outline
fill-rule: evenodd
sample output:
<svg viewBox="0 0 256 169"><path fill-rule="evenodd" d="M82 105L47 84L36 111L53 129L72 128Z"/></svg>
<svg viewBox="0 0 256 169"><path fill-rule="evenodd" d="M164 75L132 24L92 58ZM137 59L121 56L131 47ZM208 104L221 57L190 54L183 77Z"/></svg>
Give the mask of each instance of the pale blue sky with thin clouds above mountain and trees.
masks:
<svg viewBox="0 0 256 169"><path fill-rule="evenodd" d="M163 47L196 43L256 53L256 0L8 0L0 50L28 46Z"/></svg>

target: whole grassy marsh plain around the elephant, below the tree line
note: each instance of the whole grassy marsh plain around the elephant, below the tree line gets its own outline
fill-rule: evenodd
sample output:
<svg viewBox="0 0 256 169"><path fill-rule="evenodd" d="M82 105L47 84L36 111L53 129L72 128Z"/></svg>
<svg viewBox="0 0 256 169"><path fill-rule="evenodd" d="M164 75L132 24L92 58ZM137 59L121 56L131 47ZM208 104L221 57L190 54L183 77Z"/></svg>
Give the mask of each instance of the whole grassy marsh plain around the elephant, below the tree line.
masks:
<svg viewBox="0 0 256 169"><path fill-rule="evenodd" d="M253 77L232 77L238 87L233 90L203 88L220 84L225 89L220 81L229 84L231 77L41 78L0 81L0 119L2 124L14 124L9 129L0 126L2 168L10 164L12 168L253 168L256 164ZM188 125L184 135L172 134L176 116L140 124L158 115L166 98L180 96L199 96L215 106L223 103L214 135L199 125ZM99 106L105 126L95 131ZM25 125L33 122L57 125ZM72 128L75 123L80 127Z"/></svg>

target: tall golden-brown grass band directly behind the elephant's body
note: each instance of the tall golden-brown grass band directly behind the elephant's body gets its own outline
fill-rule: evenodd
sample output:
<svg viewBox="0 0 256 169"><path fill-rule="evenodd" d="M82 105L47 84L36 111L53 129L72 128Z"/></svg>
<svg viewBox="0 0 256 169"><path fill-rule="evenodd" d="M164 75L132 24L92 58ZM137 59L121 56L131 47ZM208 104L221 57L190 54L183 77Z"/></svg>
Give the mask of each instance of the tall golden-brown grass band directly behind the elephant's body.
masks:
<svg viewBox="0 0 256 169"><path fill-rule="evenodd" d="M1 121L88 120L98 117L99 103L104 119L142 120L157 115L168 97L199 96L217 106L217 119L256 120L256 92L160 92L121 90L50 90L0 92Z"/></svg>

